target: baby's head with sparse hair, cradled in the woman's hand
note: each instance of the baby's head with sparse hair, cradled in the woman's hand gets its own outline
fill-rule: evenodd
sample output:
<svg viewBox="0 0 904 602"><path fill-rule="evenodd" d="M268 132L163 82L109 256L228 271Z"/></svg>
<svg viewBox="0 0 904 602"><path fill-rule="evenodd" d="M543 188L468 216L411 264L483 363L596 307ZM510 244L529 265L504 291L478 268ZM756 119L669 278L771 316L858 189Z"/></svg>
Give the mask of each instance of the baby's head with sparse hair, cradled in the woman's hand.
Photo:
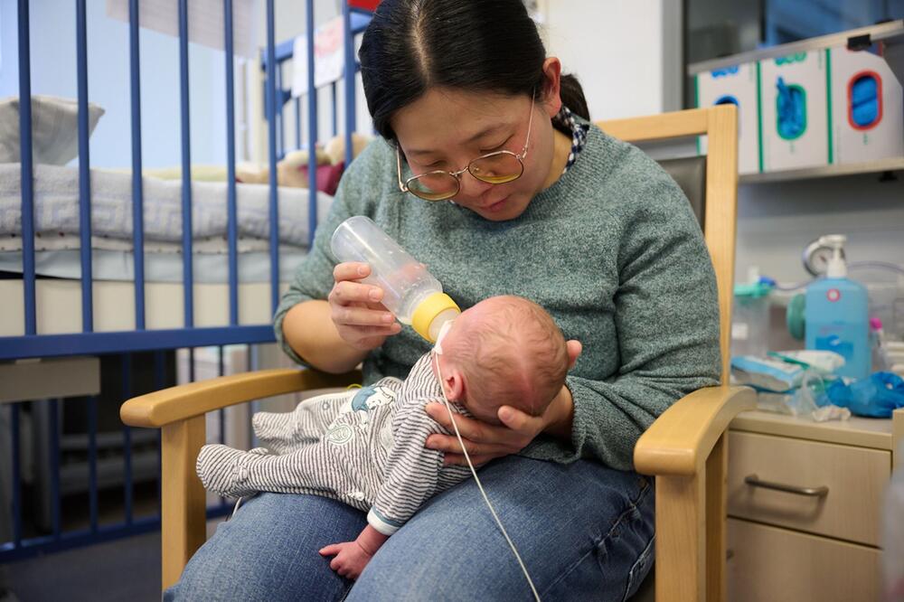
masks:
<svg viewBox="0 0 904 602"><path fill-rule="evenodd" d="M520 296L493 296L467 309L441 347L449 400L493 424L500 423L501 406L540 416L570 367L559 327L541 306ZM453 376L459 381L450 387Z"/></svg>

